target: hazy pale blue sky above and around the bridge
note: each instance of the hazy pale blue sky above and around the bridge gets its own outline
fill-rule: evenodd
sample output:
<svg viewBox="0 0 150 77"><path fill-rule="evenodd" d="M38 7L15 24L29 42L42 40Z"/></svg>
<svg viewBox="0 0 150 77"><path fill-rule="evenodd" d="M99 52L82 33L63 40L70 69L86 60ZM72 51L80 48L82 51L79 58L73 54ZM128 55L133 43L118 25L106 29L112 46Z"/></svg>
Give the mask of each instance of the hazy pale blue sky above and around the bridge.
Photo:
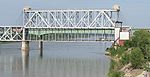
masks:
<svg viewBox="0 0 150 77"><path fill-rule="evenodd" d="M150 0L0 0L0 25L21 25L22 9L111 8L121 6L124 25L150 28Z"/></svg>

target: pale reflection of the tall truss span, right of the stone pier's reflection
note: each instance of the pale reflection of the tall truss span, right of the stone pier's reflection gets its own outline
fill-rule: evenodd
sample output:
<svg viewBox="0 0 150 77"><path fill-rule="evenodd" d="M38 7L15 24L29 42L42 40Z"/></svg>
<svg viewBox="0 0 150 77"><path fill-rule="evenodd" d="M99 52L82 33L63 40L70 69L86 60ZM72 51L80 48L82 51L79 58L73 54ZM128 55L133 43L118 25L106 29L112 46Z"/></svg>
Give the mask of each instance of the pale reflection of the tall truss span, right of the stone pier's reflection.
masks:
<svg viewBox="0 0 150 77"><path fill-rule="evenodd" d="M104 77L106 66L99 59L44 58L32 59L31 77Z"/></svg>

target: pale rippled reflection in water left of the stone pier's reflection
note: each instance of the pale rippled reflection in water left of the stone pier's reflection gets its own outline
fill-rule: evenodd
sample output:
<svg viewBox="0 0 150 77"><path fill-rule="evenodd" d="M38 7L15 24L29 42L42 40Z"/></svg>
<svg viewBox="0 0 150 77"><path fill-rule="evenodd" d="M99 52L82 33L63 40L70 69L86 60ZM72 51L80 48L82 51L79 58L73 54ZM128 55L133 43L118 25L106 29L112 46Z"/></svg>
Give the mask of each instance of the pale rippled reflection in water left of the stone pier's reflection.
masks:
<svg viewBox="0 0 150 77"><path fill-rule="evenodd" d="M16 56L0 56L1 77L22 76L22 61Z"/></svg>

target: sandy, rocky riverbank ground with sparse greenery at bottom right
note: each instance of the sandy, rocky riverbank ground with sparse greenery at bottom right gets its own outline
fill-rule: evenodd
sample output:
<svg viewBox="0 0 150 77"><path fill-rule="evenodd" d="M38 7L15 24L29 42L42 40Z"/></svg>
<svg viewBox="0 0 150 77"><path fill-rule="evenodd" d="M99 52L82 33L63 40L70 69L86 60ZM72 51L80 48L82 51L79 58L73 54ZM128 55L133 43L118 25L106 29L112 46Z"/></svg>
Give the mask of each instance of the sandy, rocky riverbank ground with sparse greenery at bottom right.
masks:
<svg viewBox="0 0 150 77"><path fill-rule="evenodd" d="M108 56L111 59L108 77L144 77L144 69L133 69L131 64L120 65L115 58Z"/></svg>

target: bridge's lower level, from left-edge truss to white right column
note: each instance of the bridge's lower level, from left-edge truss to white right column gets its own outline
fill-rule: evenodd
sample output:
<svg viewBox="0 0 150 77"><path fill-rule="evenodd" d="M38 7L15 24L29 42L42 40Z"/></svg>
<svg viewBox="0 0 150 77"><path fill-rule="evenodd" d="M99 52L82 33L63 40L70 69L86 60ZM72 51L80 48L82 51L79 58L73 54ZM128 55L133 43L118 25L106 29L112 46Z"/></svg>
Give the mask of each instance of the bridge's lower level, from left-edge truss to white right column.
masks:
<svg viewBox="0 0 150 77"><path fill-rule="evenodd" d="M23 27L0 27L0 41L22 41ZM25 28L26 41L114 41L113 28Z"/></svg>

